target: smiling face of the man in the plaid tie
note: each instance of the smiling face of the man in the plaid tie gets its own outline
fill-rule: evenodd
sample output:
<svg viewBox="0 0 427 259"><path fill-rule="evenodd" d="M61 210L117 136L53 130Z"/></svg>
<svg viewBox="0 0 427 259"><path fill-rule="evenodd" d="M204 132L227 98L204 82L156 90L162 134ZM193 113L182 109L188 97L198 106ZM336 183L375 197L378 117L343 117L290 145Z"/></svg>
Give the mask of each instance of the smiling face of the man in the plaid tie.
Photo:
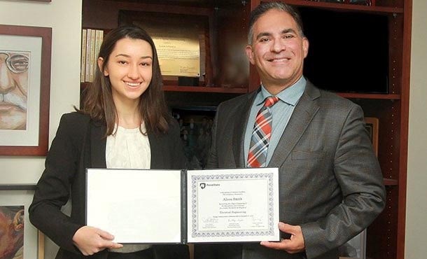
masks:
<svg viewBox="0 0 427 259"><path fill-rule="evenodd" d="M308 48L292 16L272 9L253 25L253 43L246 46L246 55L257 67L262 85L276 94L302 76Z"/></svg>

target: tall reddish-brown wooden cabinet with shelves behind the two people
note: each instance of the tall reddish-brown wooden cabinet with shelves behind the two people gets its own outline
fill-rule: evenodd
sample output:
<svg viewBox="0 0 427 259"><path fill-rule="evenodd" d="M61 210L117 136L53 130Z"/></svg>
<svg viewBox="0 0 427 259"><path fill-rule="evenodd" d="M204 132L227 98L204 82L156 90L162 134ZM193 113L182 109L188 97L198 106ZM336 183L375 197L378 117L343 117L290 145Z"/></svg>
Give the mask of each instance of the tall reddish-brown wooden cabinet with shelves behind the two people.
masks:
<svg viewBox="0 0 427 259"><path fill-rule="evenodd" d="M307 35L313 44L310 48L327 55L309 57L311 60L307 59L304 66L309 69L309 62L317 62L316 66L323 62L331 69L322 75L335 80L349 72L347 77L351 78L341 78L342 89L337 84L338 88L331 90L360 104L365 116L379 119L378 158L387 200L386 209L367 230L367 258L404 258L412 0L365 1L370 6L349 2L286 0L300 9L304 27L321 31L318 37L329 33L321 38L329 45L322 48L328 50L316 49L316 40L311 41ZM259 86L258 75L244 54L249 13L259 3L260 0L83 0L83 27L109 30L147 13L160 14L166 20L175 15L183 20L196 16L202 31L195 33L200 34L204 76L200 76L198 86L181 86L177 78L165 77L165 91L172 106L215 106ZM335 18L335 22L322 23L327 16ZM347 32L345 37L342 32ZM357 54L339 59L339 64L330 59L353 52ZM338 74L338 66L351 69ZM306 72L316 76L313 71ZM380 73L384 76L374 78ZM346 88L346 82L356 79L364 83Z"/></svg>

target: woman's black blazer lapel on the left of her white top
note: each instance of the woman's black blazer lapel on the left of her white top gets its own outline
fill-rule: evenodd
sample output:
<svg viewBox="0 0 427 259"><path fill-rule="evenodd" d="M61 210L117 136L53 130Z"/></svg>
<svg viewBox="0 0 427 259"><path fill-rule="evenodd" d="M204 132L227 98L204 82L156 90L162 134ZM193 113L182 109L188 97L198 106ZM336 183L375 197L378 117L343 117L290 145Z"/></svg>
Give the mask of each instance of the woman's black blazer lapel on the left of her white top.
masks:
<svg viewBox="0 0 427 259"><path fill-rule="evenodd" d="M94 122L90 127L90 156L92 160L92 168L106 168L105 161L105 146L106 126L102 123Z"/></svg>

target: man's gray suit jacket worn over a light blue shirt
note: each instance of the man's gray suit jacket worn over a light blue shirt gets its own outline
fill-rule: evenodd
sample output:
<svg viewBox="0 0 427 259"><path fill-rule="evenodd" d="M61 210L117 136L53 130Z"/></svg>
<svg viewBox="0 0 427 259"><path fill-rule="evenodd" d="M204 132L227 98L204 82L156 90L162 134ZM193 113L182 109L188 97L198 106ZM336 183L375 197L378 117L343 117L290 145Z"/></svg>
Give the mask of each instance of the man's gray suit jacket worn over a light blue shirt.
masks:
<svg viewBox="0 0 427 259"><path fill-rule="evenodd" d="M245 167L244 131L256 93L218 106L208 167ZM279 167L280 221L301 226L305 253L235 244L223 245L219 253L228 255L222 258L338 258L337 247L384 209L381 170L362 109L308 81L268 167Z"/></svg>

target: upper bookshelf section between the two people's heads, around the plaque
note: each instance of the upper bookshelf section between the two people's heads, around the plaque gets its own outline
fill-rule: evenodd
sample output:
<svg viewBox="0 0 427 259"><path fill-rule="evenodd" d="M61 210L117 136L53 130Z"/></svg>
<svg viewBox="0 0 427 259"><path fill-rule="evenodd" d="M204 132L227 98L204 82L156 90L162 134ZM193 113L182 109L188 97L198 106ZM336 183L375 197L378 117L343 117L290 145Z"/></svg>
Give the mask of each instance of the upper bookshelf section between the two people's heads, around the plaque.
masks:
<svg viewBox="0 0 427 259"><path fill-rule="evenodd" d="M162 22L174 22L179 15L181 20L196 23L200 28L194 31L200 38L200 83L181 87L177 77L164 76L165 91L241 94L248 92L249 73L244 45L250 6L244 2L85 0L83 28L113 29L123 24L150 22L146 17L153 16L154 20L158 13L163 14Z"/></svg>

